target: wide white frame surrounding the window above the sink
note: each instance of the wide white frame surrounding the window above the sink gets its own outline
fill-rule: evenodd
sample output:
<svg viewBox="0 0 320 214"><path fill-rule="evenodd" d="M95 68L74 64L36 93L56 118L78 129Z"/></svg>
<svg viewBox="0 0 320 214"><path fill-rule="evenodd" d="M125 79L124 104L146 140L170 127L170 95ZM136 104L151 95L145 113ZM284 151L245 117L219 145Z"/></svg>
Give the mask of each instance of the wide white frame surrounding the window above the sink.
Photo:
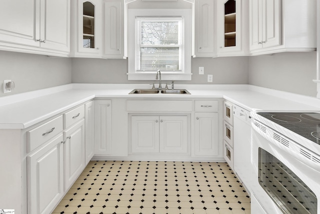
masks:
<svg viewBox="0 0 320 214"><path fill-rule="evenodd" d="M136 20L138 17L182 18L182 54L180 71L162 71L162 80L191 80L191 10L129 9L128 10L128 80L154 80L156 71L136 70ZM161 70L160 70L161 71Z"/></svg>

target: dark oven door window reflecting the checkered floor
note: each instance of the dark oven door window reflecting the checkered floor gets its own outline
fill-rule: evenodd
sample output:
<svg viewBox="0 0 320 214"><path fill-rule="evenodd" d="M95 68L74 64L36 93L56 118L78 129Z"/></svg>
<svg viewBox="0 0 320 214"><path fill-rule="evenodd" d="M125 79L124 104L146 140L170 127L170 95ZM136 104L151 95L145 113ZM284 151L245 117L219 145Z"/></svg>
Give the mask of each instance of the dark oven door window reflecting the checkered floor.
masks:
<svg viewBox="0 0 320 214"><path fill-rule="evenodd" d="M283 213L317 213L310 188L281 161L259 148L259 184Z"/></svg>

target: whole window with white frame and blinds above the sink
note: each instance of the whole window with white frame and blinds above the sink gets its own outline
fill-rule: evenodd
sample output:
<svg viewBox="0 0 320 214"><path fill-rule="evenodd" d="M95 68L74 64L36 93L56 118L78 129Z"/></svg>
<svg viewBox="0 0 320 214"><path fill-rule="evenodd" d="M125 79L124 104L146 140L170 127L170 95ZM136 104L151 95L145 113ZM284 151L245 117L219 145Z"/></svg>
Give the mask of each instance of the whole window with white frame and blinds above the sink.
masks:
<svg viewBox="0 0 320 214"><path fill-rule="evenodd" d="M190 25L189 10L129 10L128 80L191 80Z"/></svg>

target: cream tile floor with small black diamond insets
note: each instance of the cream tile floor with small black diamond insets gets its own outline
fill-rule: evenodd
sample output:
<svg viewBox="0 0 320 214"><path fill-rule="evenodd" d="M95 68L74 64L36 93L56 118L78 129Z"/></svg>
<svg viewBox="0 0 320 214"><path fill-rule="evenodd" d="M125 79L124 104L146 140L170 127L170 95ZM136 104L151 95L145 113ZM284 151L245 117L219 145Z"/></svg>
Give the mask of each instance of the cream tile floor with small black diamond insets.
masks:
<svg viewBox="0 0 320 214"><path fill-rule="evenodd" d="M90 161L54 214L249 214L226 163Z"/></svg>

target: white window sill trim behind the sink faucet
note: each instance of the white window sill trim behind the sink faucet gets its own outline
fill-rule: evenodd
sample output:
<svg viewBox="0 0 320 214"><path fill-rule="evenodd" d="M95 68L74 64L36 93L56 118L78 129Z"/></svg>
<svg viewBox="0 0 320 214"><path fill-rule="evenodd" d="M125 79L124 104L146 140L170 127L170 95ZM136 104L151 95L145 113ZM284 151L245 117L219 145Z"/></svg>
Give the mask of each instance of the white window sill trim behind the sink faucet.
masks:
<svg viewBox="0 0 320 214"><path fill-rule="evenodd" d="M156 73L126 73L128 80L155 80ZM192 74L161 73L161 80L191 80Z"/></svg>

